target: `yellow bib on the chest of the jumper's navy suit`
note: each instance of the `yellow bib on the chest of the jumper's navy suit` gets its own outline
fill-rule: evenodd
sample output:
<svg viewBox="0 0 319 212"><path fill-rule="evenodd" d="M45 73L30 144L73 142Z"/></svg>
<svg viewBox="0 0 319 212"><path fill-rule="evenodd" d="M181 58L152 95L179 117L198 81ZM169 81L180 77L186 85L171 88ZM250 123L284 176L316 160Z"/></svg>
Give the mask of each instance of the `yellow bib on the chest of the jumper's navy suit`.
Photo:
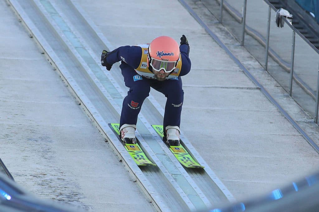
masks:
<svg viewBox="0 0 319 212"><path fill-rule="evenodd" d="M140 65L135 69L135 71L142 77L149 78L149 79L156 79L154 74L147 67L147 63L148 63L147 51L148 51L149 44L141 44L137 46L140 46L142 48L142 58L141 58ZM180 58L178 60L175 70L170 75L168 75L166 79L175 79L175 78L177 79L177 77L179 76L181 72L181 67L182 67L182 59L180 55Z"/></svg>

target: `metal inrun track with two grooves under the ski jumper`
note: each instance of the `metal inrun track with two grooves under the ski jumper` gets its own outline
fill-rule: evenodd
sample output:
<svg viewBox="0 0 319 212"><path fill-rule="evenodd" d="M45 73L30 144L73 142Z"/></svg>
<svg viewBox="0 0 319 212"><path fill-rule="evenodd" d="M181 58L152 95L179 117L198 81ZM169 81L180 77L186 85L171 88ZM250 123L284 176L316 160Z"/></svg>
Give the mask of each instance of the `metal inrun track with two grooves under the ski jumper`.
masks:
<svg viewBox="0 0 319 212"><path fill-rule="evenodd" d="M150 124L159 124L163 119L163 109L152 97L143 104L136 134L157 167L139 168L130 158L108 127L108 123L118 122L126 95L119 67L114 65L112 72L105 72L99 65L102 49L113 47L75 2L69 0L61 5L48 0L6 1L157 210L193 211L233 200L187 138L182 136L184 145L205 169L185 169L171 154Z"/></svg>

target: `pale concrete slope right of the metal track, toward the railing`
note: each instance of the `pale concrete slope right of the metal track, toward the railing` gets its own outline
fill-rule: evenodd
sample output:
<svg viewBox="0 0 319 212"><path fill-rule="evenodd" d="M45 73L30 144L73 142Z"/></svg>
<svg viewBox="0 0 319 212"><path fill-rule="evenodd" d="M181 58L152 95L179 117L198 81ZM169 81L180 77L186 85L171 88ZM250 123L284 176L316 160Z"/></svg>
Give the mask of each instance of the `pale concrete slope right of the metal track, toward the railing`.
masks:
<svg viewBox="0 0 319 212"><path fill-rule="evenodd" d="M177 41L187 36L192 70L182 77L182 131L235 198L269 191L318 167L315 150L178 1L77 2L115 48L159 35ZM254 57L201 6L198 1L191 4L226 45L247 59L246 67L278 90L271 76L255 66L259 63ZM165 97L152 95L164 108ZM296 104L291 107L304 115Z"/></svg>

